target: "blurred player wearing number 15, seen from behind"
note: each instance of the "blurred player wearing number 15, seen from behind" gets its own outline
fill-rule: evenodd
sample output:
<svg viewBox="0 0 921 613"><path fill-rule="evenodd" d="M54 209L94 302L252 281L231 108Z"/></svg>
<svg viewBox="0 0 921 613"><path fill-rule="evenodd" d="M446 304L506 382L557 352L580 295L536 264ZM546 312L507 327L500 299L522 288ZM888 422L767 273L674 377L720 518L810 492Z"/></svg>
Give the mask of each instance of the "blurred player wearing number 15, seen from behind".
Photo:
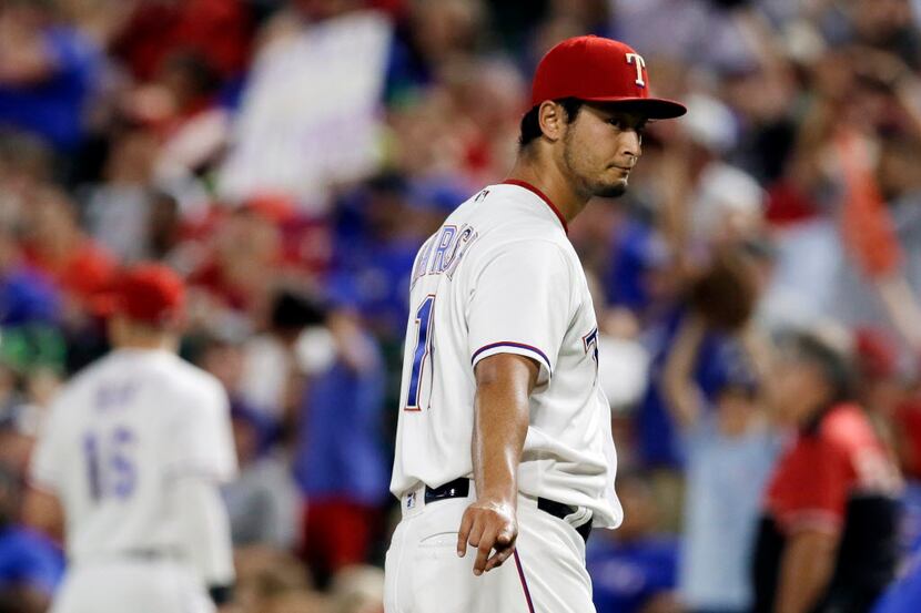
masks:
<svg viewBox="0 0 921 613"><path fill-rule="evenodd" d="M236 473L221 384L175 355L182 280L129 270L113 350L62 390L36 447L27 517L63 514L52 613L206 613L234 579L221 482ZM211 592L211 593L209 593Z"/></svg>

